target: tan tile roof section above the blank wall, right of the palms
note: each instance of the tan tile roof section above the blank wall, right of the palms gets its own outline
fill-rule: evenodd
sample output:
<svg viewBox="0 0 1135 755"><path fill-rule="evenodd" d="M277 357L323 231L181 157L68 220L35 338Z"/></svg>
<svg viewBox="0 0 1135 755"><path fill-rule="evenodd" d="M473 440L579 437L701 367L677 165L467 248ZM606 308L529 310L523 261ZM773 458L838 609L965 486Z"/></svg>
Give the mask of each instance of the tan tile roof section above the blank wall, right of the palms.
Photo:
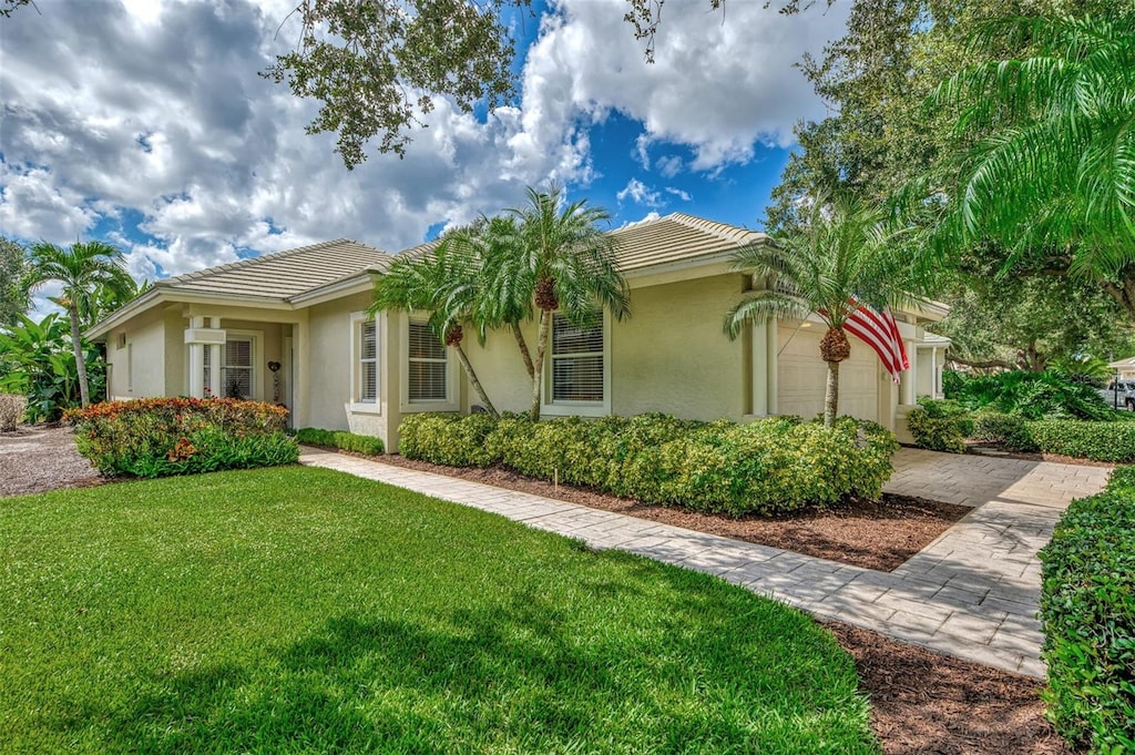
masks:
<svg viewBox="0 0 1135 755"><path fill-rule="evenodd" d="M619 268L639 268L683 262L732 252L750 244L768 243L766 234L674 212L634 223L611 232L617 240Z"/></svg>

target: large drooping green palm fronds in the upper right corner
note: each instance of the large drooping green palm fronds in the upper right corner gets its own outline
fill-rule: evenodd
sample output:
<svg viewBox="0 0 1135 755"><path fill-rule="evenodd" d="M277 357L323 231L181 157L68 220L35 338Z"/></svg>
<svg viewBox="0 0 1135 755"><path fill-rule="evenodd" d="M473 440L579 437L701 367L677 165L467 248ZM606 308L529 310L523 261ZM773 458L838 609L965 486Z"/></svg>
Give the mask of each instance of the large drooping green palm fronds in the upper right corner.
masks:
<svg viewBox="0 0 1135 755"><path fill-rule="evenodd" d="M982 238L1014 257L1067 250L1070 270L1107 277L1135 261L1135 12L1010 18L980 49L1032 50L944 82L939 106L976 136L961 154L945 244Z"/></svg>

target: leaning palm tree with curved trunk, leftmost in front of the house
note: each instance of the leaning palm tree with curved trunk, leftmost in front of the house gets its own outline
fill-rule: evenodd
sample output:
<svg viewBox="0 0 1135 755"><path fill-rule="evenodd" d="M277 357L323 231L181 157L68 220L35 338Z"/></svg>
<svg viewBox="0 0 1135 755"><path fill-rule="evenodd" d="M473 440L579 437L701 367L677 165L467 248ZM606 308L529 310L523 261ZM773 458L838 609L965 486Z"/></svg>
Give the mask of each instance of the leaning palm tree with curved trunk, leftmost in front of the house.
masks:
<svg viewBox="0 0 1135 755"><path fill-rule="evenodd" d="M472 325L481 342L486 332L484 322L476 319L481 296L480 259L466 240L464 233L454 234L423 257L395 258L390 269L376 277L375 301L368 311L372 316L389 310L428 312L430 328L456 352L486 411L498 417L462 346L462 324Z"/></svg>

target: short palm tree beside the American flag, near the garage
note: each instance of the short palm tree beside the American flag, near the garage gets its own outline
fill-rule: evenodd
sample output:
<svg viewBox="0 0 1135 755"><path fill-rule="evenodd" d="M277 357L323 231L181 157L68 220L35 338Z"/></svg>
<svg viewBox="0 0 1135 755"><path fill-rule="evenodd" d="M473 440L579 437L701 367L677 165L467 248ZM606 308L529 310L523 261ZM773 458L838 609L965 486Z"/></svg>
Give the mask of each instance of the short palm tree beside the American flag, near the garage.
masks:
<svg viewBox="0 0 1135 755"><path fill-rule="evenodd" d="M859 304L875 309L911 301L906 288L913 269L899 262L897 244L906 230L888 230L883 212L861 200L818 198L807 223L774 244L747 246L734 267L768 282L725 316L725 332L737 338L749 322L804 319L817 314L827 326L819 358L827 362L824 426L839 409L840 362L851 355L844 324Z"/></svg>

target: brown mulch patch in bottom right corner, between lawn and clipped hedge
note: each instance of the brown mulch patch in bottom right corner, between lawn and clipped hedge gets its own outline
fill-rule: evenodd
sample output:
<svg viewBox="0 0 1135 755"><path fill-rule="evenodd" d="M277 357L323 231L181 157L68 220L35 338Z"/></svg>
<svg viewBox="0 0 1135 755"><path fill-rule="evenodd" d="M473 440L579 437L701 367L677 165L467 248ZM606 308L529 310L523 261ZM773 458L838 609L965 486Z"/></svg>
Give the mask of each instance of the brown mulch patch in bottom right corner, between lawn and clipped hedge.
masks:
<svg viewBox="0 0 1135 755"><path fill-rule="evenodd" d="M865 629L824 626L855 658L886 755L1073 752L1044 718L1040 681Z"/></svg>

